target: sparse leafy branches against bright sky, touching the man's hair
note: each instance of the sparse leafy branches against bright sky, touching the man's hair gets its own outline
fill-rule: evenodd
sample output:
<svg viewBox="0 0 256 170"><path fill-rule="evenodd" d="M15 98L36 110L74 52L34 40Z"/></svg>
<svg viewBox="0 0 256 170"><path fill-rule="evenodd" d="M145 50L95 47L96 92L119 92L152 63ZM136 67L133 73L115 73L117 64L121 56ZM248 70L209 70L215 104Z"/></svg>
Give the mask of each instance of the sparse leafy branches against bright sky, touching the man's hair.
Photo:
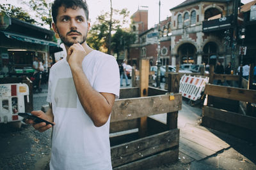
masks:
<svg viewBox="0 0 256 170"><path fill-rule="evenodd" d="M52 28L52 0L27 0L23 3L36 12L35 17L38 18L38 22L41 26L49 25L49 28Z"/></svg>

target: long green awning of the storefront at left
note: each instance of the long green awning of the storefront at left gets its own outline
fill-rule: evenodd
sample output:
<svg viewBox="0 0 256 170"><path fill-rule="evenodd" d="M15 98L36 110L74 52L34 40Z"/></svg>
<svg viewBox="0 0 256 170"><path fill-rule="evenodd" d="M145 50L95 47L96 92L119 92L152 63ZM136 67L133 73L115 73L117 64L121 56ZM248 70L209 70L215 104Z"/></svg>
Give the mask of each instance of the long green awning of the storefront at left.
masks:
<svg viewBox="0 0 256 170"><path fill-rule="evenodd" d="M20 34L15 34L13 32L6 32L6 31L1 31L1 32L3 32L3 34L6 37L17 39L19 41L25 41L25 42L28 42L28 43L35 43L35 44L40 44L40 45L58 46L57 43L54 43L52 41L45 41L43 39L31 38L29 36L23 36L23 35L20 35Z"/></svg>

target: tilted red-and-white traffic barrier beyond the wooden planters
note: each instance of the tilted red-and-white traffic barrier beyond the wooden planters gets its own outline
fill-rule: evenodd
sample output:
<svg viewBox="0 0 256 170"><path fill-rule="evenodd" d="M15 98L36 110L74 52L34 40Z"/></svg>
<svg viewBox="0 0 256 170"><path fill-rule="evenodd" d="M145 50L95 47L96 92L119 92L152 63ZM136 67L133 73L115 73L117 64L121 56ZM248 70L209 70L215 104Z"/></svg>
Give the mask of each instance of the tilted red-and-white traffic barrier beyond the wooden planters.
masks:
<svg viewBox="0 0 256 170"><path fill-rule="evenodd" d="M202 96L204 92L205 84L208 83L209 77L196 77L187 76L184 74L180 78L180 89L179 92L183 97L196 101Z"/></svg>

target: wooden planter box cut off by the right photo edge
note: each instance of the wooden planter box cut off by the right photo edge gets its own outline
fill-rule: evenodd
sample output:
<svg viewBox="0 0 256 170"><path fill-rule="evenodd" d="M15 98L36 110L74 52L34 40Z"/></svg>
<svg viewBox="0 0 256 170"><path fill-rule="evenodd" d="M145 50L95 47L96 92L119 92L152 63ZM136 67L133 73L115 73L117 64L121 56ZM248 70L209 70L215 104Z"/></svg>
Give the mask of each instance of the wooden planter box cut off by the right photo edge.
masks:
<svg viewBox="0 0 256 170"><path fill-rule="evenodd" d="M227 110L228 104L224 101L232 100L235 102L230 107L233 107L236 111L239 101L255 103L256 90L207 84L205 86L205 94L208 95L208 101L207 106L204 106L202 111L202 125L256 143L255 112L243 115ZM221 102L224 105L222 107L218 106Z"/></svg>

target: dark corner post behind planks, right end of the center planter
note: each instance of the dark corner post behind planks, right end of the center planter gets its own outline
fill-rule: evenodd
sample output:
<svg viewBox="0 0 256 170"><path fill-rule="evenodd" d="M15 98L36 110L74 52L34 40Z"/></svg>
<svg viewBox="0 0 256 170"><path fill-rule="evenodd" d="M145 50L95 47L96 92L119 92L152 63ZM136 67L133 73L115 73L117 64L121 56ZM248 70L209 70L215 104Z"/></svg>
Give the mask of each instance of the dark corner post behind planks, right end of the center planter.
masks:
<svg viewBox="0 0 256 170"><path fill-rule="evenodd" d="M177 66L179 67L179 65L177 65ZM173 94L179 93L179 87L180 87L179 73L168 74L168 92L172 92ZM170 99L172 99L172 97L170 97ZM166 124L167 124L168 129L176 129L177 128L178 111L167 113Z"/></svg>

